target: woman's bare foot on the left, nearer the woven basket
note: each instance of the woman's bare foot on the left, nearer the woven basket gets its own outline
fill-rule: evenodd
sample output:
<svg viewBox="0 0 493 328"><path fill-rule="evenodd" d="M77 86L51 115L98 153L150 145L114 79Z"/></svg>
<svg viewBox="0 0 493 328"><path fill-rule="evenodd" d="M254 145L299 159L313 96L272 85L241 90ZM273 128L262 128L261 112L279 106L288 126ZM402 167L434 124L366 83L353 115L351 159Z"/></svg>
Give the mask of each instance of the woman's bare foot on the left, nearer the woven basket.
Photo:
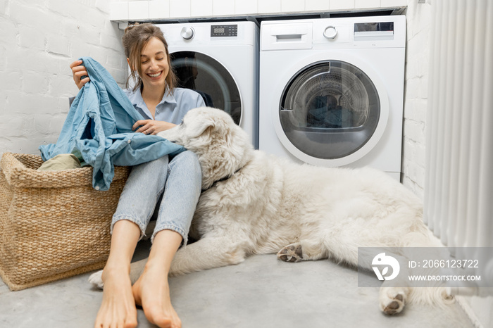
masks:
<svg viewBox="0 0 493 328"><path fill-rule="evenodd" d="M137 327L137 308L135 308L128 270L105 267L102 278L104 282L103 301L94 327Z"/></svg>

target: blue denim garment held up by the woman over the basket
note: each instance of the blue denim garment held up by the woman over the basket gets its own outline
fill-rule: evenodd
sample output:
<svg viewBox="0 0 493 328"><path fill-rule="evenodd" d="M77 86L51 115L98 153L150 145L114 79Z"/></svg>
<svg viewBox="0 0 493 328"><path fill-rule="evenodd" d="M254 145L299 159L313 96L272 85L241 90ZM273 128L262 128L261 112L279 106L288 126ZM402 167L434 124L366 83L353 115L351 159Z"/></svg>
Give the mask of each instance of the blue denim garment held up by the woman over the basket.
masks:
<svg viewBox="0 0 493 328"><path fill-rule="evenodd" d="M138 165L185 150L162 137L132 132L142 115L101 64L89 57L80 59L90 81L70 106L56 144L39 146L43 160L78 150L93 167L92 187L108 190L113 165Z"/></svg>

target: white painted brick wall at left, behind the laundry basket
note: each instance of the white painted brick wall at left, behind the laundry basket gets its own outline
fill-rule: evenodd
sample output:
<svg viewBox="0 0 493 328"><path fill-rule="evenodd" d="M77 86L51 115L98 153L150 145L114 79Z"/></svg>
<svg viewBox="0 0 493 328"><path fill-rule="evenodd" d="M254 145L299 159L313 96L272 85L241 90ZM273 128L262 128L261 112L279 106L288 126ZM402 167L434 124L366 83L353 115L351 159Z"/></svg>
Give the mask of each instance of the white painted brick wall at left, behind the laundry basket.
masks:
<svg viewBox="0 0 493 328"><path fill-rule="evenodd" d="M0 156L56 142L78 92L69 64L99 61L120 84L126 61L109 0L0 0Z"/></svg>

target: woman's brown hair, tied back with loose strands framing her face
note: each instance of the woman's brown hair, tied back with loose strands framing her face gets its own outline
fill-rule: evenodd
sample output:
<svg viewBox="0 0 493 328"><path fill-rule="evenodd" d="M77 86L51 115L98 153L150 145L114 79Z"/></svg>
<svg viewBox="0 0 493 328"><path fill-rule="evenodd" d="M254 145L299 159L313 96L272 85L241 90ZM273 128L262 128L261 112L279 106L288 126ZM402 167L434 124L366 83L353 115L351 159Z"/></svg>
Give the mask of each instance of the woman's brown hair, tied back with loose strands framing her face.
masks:
<svg viewBox="0 0 493 328"><path fill-rule="evenodd" d="M142 75L141 61L140 61L140 53L144 46L146 46L147 42L152 37L156 37L161 40L164 44L164 48L166 49L166 60L168 61L168 75L166 76L166 89L165 92L173 93L173 89L176 87L176 76L171 68L170 61L170 52L168 51L168 42L164 38L164 34L159 27L152 25L150 23L145 24L135 24L130 25L125 29L125 33L122 37L123 48L125 49L125 56L127 56L130 61L130 76L127 79L126 87L129 87L130 77L136 81L133 91L137 90L142 85L142 79L140 76ZM135 72L135 68L137 68L137 73Z"/></svg>

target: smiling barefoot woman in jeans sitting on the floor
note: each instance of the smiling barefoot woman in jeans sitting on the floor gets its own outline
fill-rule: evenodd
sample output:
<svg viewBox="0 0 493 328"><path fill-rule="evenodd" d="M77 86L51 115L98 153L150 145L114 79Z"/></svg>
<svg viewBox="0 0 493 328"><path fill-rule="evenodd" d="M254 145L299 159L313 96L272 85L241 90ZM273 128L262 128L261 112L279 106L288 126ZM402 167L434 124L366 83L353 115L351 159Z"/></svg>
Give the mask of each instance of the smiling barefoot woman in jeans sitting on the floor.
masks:
<svg viewBox="0 0 493 328"><path fill-rule="evenodd" d="M200 94L175 87L170 70L168 44L161 30L151 24L132 25L123 35L123 47L131 68L126 89L130 102L142 115L135 132L157 134L180 124L192 108L205 106ZM89 82L85 67L70 67L77 87ZM166 189L166 190L165 190ZM103 301L95 327L137 326L135 304L142 305L149 322L158 327L180 327L170 301L168 270L187 234L201 191L201 168L190 151L164 156L132 168L111 222L111 249L102 273ZM130 259L156 210L156 227L148 265L137 282L130 283Z"/></svg>

